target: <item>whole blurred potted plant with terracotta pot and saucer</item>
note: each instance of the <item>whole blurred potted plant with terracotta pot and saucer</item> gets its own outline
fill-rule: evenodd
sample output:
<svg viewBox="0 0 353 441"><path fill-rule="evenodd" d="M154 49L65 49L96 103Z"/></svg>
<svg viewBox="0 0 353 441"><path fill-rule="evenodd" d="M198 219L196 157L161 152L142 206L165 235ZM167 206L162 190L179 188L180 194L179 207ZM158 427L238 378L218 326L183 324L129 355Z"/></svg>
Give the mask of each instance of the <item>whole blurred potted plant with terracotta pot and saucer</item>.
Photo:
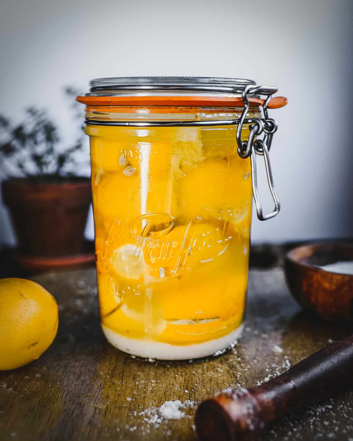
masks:
<svg viewBox="0 0 353 441"><path fill-rule="evenodd" d="M65 93L78 120L77 90ZM84 249L90 178L79 176L88 161L77 159L82 127L75 142L63 147L45 110L30 107L25 113L16 125L0 115L2 196L18 240L16 257L29 270L88 262L94 256Z"/></svg>

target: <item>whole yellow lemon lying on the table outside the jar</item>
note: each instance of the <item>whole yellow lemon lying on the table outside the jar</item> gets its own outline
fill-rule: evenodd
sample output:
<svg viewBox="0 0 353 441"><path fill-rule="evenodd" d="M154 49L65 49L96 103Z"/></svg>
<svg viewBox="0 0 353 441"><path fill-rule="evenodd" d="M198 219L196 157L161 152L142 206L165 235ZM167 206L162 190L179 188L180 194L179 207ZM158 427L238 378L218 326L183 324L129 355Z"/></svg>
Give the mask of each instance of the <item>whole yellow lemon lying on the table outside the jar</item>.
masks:
<svg viewBox="0 0 353 441"><path fill-rule="evenodd" d="M0 280L0 370L38 359L52 344L58 306L48 291L31 280Z"/></svg>

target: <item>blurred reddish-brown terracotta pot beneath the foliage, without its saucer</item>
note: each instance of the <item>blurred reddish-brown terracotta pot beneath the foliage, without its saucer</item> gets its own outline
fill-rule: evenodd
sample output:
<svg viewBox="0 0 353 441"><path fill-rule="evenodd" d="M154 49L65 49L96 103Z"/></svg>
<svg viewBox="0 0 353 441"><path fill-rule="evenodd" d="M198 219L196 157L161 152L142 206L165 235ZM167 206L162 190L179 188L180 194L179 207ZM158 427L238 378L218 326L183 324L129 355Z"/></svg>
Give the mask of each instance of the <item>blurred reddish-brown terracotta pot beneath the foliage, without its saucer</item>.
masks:
<svg viewBox="0 0 353 441"><path fill-rule="evenodd" d="M21 254L63 256L83 251L91 202L89 178L34 183L26 178L3 181Z"/></svg>

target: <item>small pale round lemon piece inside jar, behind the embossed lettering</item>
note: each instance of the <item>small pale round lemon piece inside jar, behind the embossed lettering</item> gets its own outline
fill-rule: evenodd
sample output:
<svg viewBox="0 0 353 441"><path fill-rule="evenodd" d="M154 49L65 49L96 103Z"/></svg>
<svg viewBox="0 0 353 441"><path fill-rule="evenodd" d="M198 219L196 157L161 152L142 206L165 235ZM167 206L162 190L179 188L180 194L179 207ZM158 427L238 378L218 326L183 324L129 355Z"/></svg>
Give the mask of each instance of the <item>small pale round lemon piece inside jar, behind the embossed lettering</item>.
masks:
<svg viewBox="0 0 353 441"><path fill-rule="evenodd" d="M141 247L126 243L115 250L112 262L113 269L120 277L129 280L139 280L145 270L145 261Z"/></svg>

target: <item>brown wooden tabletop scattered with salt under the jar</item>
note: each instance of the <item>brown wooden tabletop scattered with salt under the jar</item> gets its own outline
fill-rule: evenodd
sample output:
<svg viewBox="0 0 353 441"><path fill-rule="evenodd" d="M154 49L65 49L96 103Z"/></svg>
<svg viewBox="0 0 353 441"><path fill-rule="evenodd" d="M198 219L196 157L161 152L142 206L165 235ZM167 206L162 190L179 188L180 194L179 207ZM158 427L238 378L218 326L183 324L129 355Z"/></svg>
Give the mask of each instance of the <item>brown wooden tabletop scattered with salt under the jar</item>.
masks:
<svg viewBox="0 0 353 441"><path fill-rule="evenodd" d="M0 372L1 441L195 440L194 408L159 426L151 421L158 418L155 411L139 414L167 400L198 403L229 386L254 386L352 331L303 313L282 269L252 269L244 336L237 346L193 362L148 362L106 342L94 269L35 280L56 297L59 330L40 359ZM332 439L353 441L352 390L285 417L262 438Z"/></svg>

